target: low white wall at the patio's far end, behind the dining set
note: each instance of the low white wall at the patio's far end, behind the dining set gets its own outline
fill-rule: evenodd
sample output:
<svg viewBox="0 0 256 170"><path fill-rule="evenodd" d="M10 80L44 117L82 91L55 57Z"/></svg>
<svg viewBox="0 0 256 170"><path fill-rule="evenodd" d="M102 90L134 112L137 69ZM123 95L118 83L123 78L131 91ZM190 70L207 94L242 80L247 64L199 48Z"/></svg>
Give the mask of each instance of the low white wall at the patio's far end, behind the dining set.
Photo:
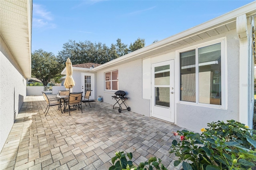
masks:
<svg viewBox="0 0 256 170"><path fill-rule="evenodd" d="M51 94L56 95L59 90L66 90L66 88L64 86L52 86ZM27 96L42 95L42 91L44 91L44 86L27 86Z"/></svg>

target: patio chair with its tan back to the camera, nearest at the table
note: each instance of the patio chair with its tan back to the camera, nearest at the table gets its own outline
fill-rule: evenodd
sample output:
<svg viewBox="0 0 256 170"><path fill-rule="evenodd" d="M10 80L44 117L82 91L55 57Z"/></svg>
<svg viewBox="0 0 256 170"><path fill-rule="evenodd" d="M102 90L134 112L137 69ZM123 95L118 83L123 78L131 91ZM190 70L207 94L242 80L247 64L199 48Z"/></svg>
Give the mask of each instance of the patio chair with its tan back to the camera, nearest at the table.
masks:
<svg viewBox="0 0 256 170"><path fill-rule="evenodd" d="M65 100L64 113L66 113L67 106L68 106L69 115L70 115L70 106L78 107L78 110L81 109L82 111L82 93L83 92L69 93L68 99L64 99Z"/></svg>

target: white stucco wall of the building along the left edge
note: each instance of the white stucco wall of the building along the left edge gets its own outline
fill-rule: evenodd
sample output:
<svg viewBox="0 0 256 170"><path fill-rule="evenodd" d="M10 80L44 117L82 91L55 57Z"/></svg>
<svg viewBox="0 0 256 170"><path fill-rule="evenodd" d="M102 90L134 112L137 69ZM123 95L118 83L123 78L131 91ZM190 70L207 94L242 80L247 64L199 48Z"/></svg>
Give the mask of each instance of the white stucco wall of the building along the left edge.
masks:
<svg viewBox="0 0 256 170"><path fill-rule="evenodd" d="M26 77L0 36L0 150L26 97Z"/></svg>

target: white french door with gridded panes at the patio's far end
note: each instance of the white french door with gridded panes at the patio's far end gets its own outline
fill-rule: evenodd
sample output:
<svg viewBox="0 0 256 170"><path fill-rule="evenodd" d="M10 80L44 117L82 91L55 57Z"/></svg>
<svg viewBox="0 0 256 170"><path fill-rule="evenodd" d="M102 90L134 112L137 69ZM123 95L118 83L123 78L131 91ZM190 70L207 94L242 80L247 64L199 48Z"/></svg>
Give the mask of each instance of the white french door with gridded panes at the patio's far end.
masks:
<svg viewBox="0 0 256 170"><path fill-rule="evenodd" d="M90 100L94 100L94 74L91 73L82 73L82 92L83 96L87 90L92 90L90 95Z"/></svg>

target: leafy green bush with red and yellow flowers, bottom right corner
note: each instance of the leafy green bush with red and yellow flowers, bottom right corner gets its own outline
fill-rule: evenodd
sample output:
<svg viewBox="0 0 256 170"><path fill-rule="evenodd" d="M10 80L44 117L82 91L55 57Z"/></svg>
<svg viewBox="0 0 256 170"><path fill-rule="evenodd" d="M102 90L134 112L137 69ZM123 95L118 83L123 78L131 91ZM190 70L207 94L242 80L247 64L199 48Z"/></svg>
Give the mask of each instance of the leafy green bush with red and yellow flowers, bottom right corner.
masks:
<svg viewBox="0 0 256 170"><path fill-rule="evenodd" d="M244 124L230 120L208 123L202 134L182 130L180 142L172 141L170 153L175 153L184 170L248 170L256 163L256 135Z"/></svg>

